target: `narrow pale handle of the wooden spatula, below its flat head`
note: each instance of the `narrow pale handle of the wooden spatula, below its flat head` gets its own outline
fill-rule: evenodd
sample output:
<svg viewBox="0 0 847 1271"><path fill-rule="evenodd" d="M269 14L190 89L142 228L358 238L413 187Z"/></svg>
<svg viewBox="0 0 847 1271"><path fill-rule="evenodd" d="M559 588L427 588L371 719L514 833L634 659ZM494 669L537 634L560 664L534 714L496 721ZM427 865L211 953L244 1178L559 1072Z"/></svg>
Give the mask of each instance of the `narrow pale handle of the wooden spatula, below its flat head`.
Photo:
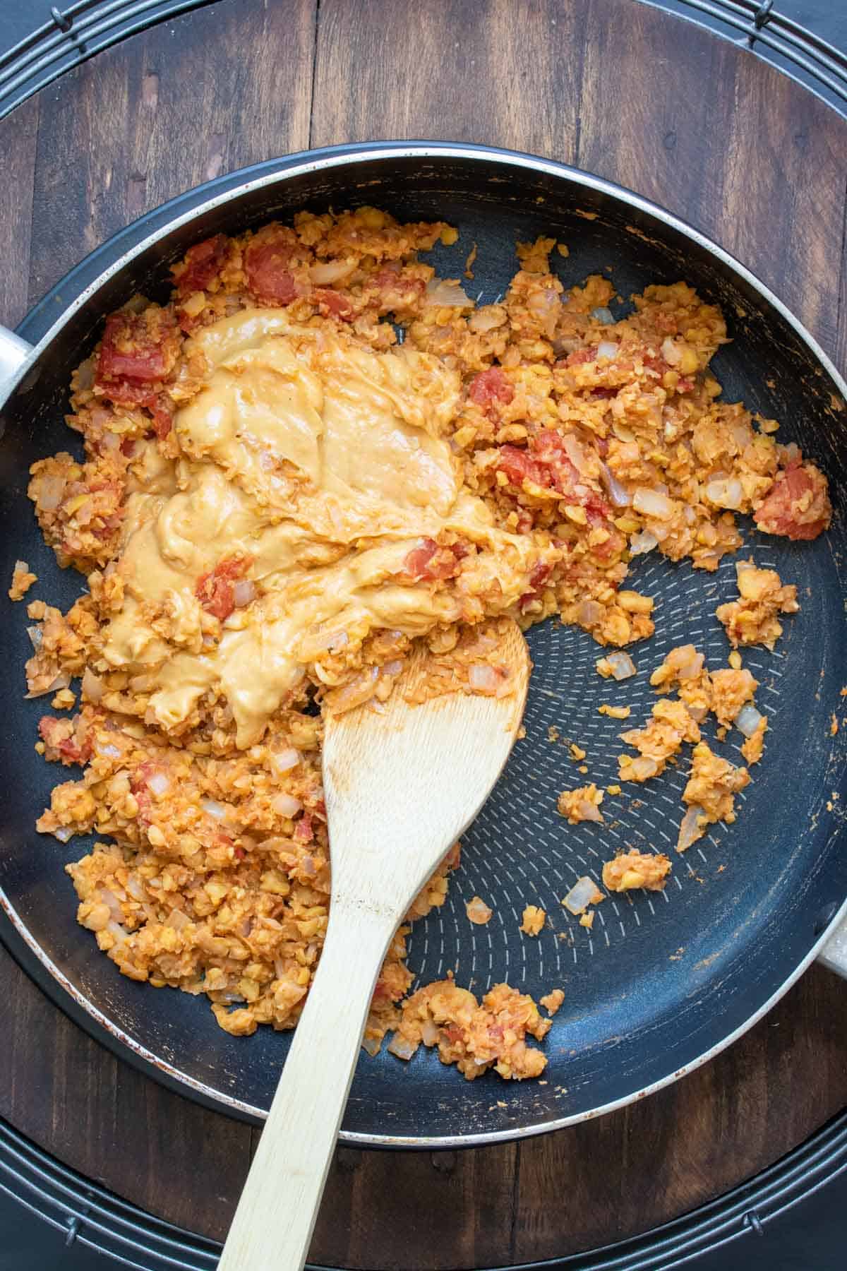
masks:
<svg viewBox="0 0 847 1271"><path fill-rule="evenodd" d="M333 900L326 942L218 1271L301 1271L396 916Z"/></svg>

